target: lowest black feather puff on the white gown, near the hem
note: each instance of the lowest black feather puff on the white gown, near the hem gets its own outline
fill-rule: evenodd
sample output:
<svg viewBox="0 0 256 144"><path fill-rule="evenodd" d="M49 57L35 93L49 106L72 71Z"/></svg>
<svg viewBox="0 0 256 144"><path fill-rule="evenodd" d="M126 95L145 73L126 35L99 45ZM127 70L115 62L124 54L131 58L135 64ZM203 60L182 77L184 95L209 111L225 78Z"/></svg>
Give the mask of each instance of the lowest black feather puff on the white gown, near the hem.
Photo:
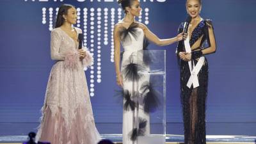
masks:
<svg viewBox="0 0 256 144"><path fill-rule="evenodd" d="M138 136L144 136L147 126L147 120L145 118L139 118L139 129L135 128L132 130L131 140L135 141Z"/></svg>

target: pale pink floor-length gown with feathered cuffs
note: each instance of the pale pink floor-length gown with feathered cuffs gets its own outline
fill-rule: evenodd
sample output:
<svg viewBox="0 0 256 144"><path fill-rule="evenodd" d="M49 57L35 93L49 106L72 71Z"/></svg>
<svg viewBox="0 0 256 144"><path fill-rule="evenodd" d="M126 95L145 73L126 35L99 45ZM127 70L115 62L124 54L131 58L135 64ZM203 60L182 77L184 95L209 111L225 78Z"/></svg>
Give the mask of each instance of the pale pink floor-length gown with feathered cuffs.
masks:
<svg viewBox="0 0 256 144"><path fill-rule="evenodd" d="M77 35L82 33L79 28L76 31ZM57 62L49 76L36 141L96 144L100 140L83 70L91 65L93 58L83 48L87 56L80 60L77 49L78 45L65 31L52 30L51 58Z"/></svg>

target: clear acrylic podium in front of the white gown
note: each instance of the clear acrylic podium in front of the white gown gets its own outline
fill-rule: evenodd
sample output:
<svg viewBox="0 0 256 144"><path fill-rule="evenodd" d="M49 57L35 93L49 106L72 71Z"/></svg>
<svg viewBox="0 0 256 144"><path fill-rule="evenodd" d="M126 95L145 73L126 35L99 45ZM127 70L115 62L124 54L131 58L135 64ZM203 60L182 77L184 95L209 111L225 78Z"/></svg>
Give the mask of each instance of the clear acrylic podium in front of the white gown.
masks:
<svg viewBox="0 0 256 144"><path fill-rule="evenodd" d="M140 80L136 81L137 97L134 125L137 138L136 144L165 144L166 140L166 51L143 50L134 52L135 63L138 65ZM145 86L145 83L147 83ZM145 94L146 93L146 94ZM146 98L147 97L147 98ZM142 100L141 100L142 99ZM142 105L142 106L141 106ZM149 105L149 106L148 106ZM144 111L141 111L143 109ZM143 127L145 109L149 127ZM144 129L143 129L144 128ZM148 131L148 132L147 132Z"/></svg>

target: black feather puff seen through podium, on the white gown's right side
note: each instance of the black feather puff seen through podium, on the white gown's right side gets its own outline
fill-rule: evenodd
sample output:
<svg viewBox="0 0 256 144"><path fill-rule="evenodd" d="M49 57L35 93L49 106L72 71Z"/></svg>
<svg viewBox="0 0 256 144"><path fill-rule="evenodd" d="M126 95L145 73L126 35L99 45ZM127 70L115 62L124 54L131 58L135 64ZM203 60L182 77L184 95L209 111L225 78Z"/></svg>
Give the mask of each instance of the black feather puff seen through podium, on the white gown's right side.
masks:
<svg viewBox="0 0 256 144"><path fill-rule="evenodd" d="M160 93L154 88L152 83L145 83L141 88L144 89L144 111L145 113L152 113L160 106Z"/></svg>

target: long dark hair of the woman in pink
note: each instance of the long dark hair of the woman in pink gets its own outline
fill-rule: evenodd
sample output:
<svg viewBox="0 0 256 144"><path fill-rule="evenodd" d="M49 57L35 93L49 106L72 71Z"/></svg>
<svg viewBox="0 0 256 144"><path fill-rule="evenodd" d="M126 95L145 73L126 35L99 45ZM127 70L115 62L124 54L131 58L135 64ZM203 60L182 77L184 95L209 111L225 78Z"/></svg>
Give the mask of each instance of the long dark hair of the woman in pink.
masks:
<svg viewBox="0 0 256 144"><path fill-rule="evenodd" d="M55 23L55 28L59 28L62 26L62 24L65 22L65 19L63 15L68 14L68 9L75 8L75 6L72 6L71 4L62 4L58 10L58 15Z"/></svg>

